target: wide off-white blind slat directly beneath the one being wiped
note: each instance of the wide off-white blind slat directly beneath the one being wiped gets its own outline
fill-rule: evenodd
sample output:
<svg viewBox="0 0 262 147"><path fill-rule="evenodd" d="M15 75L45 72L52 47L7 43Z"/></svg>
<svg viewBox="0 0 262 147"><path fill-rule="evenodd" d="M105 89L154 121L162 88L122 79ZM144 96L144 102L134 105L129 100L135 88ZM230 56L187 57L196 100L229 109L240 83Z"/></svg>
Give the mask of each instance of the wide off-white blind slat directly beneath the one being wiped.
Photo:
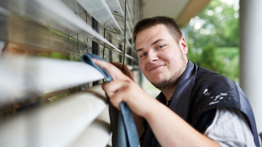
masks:
<svg viewBox="0 0 262 147"><path fill-rule="evenodd" d="M0 146L71 145L107 106L101 85L88 90L1 122Z"/></svg>

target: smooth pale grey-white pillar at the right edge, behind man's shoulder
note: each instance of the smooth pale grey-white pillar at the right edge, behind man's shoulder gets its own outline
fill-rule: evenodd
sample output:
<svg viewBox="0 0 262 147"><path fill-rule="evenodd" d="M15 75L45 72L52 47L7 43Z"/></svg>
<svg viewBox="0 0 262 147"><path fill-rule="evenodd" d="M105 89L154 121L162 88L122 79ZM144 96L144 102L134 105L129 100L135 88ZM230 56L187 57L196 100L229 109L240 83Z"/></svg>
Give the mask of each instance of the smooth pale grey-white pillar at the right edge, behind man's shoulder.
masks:
<svg viewBox="0 0 262 147"><path fill-rule="evenodd" d="M262 1L240 0L240 87L247 95L262 132Z"/></svg>

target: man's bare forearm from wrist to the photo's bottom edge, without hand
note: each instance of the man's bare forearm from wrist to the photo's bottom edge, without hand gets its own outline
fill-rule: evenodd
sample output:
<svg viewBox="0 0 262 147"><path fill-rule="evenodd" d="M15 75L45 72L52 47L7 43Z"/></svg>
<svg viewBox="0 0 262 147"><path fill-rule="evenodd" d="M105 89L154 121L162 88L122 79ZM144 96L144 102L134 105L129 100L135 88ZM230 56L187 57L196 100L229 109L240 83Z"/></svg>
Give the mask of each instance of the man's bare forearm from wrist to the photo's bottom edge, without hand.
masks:
<svg viewBox="0 0 262 147"><path fill-rule="evenodd" d="M152 100L150 105L154 109L145 119L162 146L220 146L157 100Z"/></svg>

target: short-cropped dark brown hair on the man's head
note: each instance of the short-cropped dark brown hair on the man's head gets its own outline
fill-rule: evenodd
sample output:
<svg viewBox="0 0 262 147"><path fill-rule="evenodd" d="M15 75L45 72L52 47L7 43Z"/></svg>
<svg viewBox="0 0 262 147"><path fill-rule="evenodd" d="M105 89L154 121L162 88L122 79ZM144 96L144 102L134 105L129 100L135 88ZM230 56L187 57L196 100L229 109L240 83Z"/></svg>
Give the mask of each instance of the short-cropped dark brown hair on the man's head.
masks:
<svg viewBox="0 0 262 147"><path fill-rule="evenodd" d="M182 37L182 32L178 28L176 21L173 18L167 16L155 16L151 18L145 18L137 22L133 32L134 43L136 40L136 36L139 32L147 28L150 28L152 26L157 26L161 24L166 26L168 32L173 36L174 40L178 43Z"/></svg>

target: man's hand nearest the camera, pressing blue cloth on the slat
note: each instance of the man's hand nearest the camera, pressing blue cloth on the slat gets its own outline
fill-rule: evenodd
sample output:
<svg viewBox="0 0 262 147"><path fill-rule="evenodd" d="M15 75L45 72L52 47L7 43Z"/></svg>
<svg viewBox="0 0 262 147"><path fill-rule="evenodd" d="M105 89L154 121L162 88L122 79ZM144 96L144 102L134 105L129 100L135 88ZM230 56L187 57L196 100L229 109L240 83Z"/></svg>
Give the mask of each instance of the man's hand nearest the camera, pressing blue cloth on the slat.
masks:
<svg viewBox="0 0 262 147"><path fill-rule="evenodd" d="M145 117L150 111L150 102L154 99L114 65L101 60L92 60L96 65L107 70L113 78L113 81L102 86L112 105L120 109L119 104L123 101L135 114Z"/></svg>

